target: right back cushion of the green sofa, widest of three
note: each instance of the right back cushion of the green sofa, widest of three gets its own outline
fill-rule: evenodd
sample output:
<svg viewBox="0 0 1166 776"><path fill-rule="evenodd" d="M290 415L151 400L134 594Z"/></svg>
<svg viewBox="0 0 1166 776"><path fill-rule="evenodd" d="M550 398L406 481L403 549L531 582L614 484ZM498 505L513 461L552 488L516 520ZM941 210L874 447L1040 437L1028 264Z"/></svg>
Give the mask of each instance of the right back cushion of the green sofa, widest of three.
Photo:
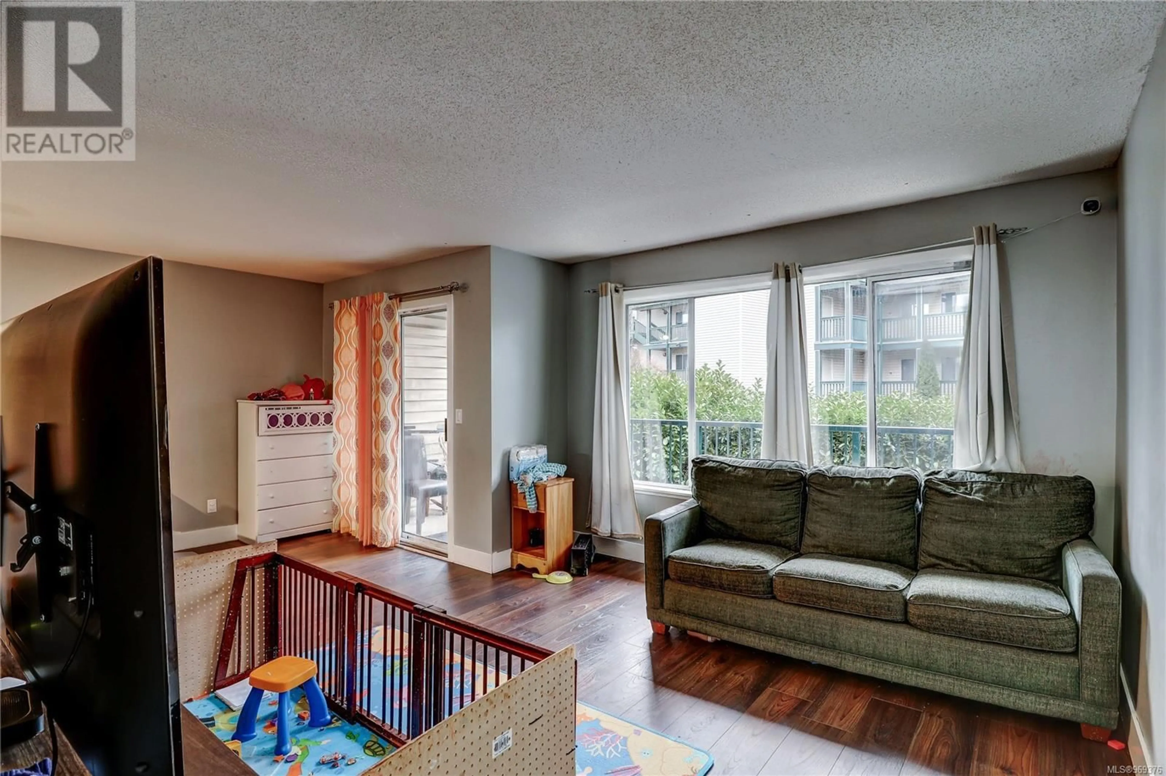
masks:
<svg viewBox="0 0 1166 776"><path fill-rule="evenodd" d="M1061 548L1093 528L1083 477L930 472L923 480L919 567L1061 579Z"/></svg>

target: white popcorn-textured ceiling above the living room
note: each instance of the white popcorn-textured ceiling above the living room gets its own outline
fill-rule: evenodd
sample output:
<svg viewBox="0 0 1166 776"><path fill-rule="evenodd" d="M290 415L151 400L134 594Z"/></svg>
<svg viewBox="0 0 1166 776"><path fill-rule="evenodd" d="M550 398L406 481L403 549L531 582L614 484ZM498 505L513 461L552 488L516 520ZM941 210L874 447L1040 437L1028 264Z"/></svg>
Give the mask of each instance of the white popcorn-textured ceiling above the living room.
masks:
<svg viewBox="0 0 1166 776"><path fill-rule="evenodd" d="M1115 161L1163 3L140 2L138 161L5 234L331 280L577 260Z"/></svg>

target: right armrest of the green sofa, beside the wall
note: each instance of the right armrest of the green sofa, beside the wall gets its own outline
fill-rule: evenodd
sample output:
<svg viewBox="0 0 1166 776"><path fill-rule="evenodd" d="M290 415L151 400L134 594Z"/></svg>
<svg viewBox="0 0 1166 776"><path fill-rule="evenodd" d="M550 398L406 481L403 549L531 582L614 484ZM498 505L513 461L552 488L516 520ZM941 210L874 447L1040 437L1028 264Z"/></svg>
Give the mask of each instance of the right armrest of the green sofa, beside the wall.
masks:
<svg viewBox="0 0 1166 776"><path fill-rule="evenodd" d="M1087 538L1066 544L1061 563L1061 587L1077 620L1081 700L1117 708L1122 580L1097 545Z"/></svg>

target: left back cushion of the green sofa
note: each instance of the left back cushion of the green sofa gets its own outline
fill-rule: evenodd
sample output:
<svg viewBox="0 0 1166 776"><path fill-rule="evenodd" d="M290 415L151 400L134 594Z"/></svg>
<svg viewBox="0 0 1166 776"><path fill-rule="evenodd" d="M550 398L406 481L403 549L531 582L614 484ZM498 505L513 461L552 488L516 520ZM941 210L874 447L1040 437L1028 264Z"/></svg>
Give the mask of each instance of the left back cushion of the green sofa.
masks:
<svg viewBox="0 0 1166 776"><path fill-rule="evenodd" d="M697 456L693 498L707 536L798 549L806 467L789 460Z"/></svg>

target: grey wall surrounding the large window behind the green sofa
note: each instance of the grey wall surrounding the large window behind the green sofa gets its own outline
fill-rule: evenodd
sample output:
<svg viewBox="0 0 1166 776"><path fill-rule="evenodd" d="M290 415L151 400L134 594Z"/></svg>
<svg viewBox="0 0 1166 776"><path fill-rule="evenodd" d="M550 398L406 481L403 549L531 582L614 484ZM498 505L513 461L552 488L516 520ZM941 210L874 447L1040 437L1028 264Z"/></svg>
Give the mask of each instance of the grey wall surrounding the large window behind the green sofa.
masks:
<svg viewBox="0 0 1166 776"><path fill-rule="evenodd" d="M583 527L591 471L599 281L659 285L768 271L775 261L830 263L970 237L976 224L1038 226L1075 213L1086 197L1104 210L1007 244L1016 317L1020 437L1028 471L1080 473L1097 489L1095 539L1114 546L1116 417L1116 176L1100 170L932 199L718 240L571 266L568 464ZM670 503L654 498L648 510Z"/></svg>

